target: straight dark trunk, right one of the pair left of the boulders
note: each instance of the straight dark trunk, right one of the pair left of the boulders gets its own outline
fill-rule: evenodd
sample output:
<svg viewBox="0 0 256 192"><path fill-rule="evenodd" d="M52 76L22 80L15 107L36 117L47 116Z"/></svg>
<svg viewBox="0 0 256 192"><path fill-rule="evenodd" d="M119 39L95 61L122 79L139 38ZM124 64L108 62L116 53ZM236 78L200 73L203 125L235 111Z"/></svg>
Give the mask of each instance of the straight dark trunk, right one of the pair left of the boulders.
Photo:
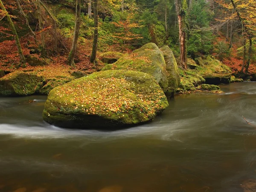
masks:
<svg viewBox="0 0 256 192"><path fill-rule="evenodd" d="M98 0L93 0L93 14L94 14L94 34L93 34L93 51L90 57L90 62L95 63L97 44L98 44Z"/></svg>

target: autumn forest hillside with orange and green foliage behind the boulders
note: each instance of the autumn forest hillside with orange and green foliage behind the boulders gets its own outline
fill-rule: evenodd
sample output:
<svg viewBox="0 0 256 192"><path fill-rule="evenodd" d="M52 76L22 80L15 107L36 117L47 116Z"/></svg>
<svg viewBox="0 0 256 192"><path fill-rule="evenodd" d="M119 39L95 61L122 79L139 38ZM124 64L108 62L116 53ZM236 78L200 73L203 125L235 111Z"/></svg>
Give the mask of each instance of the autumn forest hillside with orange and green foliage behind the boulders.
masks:
<svg viewBox="0 0 256 192"><path fill-rule="evenodd" d="M41 1L39 7L35 0L2 2L12 18L26 58L33 55L41 61L50 63L48 67L60 73L60 76L63 71L69 70L63 66L67 64L72 47L76 2ZM187 57L196 59L212 55L231 67L233 73L254 74L256 3L253 0L236 0L234 3L239 17L232 2L180 1L180 10L185 21ZM78 48L74 59L76 69L87 74L93 73L104 66L101 61L104 54L116 57L118 52L130 53L148 42L154 42L158 47L168 45L179 61L179 24L175 9L177 2L174 0L99 0L99 39L94 63L90 62L95 29L93 2L83 0L81 5ZM38 9L41 14L38 14ZM26 67L26 70L29 70L30 65L20 64L14 35L5 14L1 10L0 66L10 72L19 67Z"/></svg>

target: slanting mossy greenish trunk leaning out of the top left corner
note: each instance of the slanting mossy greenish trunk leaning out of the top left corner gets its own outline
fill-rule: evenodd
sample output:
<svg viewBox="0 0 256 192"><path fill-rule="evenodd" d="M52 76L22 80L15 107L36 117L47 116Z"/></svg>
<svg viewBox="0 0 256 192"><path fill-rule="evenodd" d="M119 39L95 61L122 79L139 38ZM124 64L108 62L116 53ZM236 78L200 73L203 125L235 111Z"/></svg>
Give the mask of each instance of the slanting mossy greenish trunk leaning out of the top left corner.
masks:
<svg viewBox="0 0 256 192"><path fill-rule="evenodd" d="M15 26L14 24L12 23L12 19L10 17L10 15L8 14L8 12L6 11L2 1L0 0L0 8L3 10L3 12L5 12L6 14L6 17L7 17L7 21L12 29L12 33L14 35L14 38L15 38L15 41L16 41L16 45L17 45L17 49L18 49L18 53L20 55L20 62L25 65L26 64L26 59L23 55L23 52L22 52L22 49L21 49L21 45L20 45L20 40L19 40L19 37L17 35L17 32L16 32L16 29L15 29Z"/></svg>

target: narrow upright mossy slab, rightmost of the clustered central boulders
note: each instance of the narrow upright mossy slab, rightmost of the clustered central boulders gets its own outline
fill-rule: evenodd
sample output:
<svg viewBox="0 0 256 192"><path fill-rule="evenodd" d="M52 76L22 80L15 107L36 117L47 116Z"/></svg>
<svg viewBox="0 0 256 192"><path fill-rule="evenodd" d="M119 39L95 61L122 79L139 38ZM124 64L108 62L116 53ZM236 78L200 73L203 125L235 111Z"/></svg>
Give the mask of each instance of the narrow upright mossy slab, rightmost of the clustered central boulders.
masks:
<svg viewBox="0 0 256 192"><path fill-rule="evenodd" d="M160 48L160 50L163 52L164 60L166 63L166 72L167 72L167 80L168 80L166 96L169 99L174 96L174 93L179 87L180 74L179 74L177 62L173 55L172 50L167 45Z"/></svg>

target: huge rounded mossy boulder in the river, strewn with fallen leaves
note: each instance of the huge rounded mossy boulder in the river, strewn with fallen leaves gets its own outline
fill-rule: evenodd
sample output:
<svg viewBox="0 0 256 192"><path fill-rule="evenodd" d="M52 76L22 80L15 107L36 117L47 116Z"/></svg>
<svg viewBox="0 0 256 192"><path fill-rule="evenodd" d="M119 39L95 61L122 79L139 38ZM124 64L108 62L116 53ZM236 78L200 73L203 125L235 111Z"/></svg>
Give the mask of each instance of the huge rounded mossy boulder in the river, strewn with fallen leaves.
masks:
<svg viewBox="0 0 256 192"><path fill-rule="evenodd" d="M148 122L167 106L152 76L107 70L51 90L43 119L64 128L122 128Z"/></svg>

